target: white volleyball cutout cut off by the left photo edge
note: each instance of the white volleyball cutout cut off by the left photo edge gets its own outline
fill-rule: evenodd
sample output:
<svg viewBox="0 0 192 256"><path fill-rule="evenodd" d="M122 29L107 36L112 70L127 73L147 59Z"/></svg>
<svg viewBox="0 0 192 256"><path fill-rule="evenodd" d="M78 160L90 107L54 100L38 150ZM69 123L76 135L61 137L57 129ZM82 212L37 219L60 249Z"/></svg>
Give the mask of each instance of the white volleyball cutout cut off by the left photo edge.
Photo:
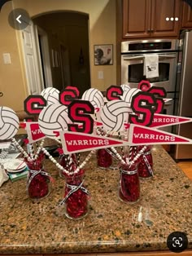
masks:
<svg viewBox="0 0 192 256"><path fill-rule="evenodd" d="M11 108L0 107L0 140L11 139L19 130L20 121Z"/></svg>

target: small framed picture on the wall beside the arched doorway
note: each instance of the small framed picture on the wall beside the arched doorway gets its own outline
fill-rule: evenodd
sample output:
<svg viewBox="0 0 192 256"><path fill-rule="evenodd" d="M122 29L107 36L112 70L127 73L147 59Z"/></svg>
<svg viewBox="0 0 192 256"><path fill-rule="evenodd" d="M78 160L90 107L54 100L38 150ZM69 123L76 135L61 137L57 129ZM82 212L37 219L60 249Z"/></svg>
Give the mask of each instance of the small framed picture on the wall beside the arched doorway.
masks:
<svg viewBox="0 0 192 256"><path fill-rule="evenodd" d="M113 45L94 45L94 64L113 64Z"/></svg>

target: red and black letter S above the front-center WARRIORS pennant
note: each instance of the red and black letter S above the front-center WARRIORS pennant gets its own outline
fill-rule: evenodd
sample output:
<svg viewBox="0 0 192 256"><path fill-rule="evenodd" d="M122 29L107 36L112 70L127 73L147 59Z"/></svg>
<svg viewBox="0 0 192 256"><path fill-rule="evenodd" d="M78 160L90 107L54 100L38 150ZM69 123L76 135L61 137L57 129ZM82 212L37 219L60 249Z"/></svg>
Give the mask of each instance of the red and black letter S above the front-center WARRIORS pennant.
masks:
<svg viewBox="0 0 192 256"><path fill-rule="evenodd" d="M68 130L92 134L94 119L89 114L94 114L94 106L89 101L74 100L68 106L68 117L73 122L81 123L83 127L79 127L78 124L68 124Z"/></svg>

